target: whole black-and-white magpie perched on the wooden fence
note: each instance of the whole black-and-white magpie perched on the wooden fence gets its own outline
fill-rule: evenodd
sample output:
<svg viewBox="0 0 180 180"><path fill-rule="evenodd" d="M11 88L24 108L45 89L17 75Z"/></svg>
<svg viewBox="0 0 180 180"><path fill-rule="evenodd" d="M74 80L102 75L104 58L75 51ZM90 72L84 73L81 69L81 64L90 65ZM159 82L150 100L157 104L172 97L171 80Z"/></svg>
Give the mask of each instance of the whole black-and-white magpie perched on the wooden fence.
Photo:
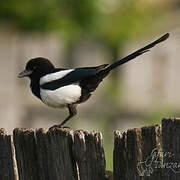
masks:
<svg viewBox="0 0 180 180"><path fill-rule="evenodd" d="M64 69L55 68L46 58L33 58L27 62L25 70L18 77L30 78L32 93L44 104L54 108L68 108L69 115L66 119L50 129L61 127L77 114L77 105L90 98L92 92L111 70L148 52L150 48L165 41L168 37L169 33L166 33L156 41L110 65Z"/></svg>

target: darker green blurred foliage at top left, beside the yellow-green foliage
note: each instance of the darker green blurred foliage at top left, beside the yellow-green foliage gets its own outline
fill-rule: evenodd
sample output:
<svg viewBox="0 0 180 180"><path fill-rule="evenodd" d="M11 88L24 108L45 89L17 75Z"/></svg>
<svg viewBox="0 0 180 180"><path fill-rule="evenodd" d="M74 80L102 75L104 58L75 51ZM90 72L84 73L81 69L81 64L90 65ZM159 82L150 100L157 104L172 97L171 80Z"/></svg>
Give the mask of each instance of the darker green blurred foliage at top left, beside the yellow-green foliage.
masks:
<svg viewBox="0 0 180 180"><path fill-rule="evenodd" d="M76 38L95 22L95 0L6 0L0 4L0 23L19 31L58 31Z"/></svg>

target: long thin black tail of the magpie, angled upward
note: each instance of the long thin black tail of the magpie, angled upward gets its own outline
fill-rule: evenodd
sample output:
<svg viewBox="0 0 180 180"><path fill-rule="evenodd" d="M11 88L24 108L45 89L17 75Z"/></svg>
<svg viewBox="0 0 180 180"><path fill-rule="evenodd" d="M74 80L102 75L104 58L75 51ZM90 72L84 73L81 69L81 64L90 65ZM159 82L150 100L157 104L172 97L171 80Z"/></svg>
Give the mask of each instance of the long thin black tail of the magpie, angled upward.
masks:
<svg viewBox="0 0 180 180"><path fill-rule="evenodd" d="M159 39L152 42L151 44L148 44L147 46L145 46L145 47L135 51L134 53L120 59L119 61L111 64L110 66L105 68L104 71L109 72L112 69L116 68L117 66L120 66L121 64L124 64L124 63L136 58L137 56L140 56L141 54L148 52L152 47L154 47L156 44L159 44L160 42L165 41L166 39L168 39L168 37L169 37L169 33L166 33L164 36L160 37Z"/></svg>

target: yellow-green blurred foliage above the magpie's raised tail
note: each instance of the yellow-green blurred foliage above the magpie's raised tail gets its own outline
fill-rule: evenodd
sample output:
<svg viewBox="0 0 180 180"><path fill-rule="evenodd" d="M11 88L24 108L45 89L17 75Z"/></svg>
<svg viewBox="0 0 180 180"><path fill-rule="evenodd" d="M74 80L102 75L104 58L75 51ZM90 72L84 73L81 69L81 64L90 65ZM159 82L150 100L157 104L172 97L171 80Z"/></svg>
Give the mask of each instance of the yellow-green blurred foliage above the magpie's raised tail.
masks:
<svg viewBox="0 0 180 180"><path fill-rule="evenodd" d="M115 1L114 10L104 13L99 36L112 49L117 49L138 35L150 32L161 9L142 0Z"/></svg>

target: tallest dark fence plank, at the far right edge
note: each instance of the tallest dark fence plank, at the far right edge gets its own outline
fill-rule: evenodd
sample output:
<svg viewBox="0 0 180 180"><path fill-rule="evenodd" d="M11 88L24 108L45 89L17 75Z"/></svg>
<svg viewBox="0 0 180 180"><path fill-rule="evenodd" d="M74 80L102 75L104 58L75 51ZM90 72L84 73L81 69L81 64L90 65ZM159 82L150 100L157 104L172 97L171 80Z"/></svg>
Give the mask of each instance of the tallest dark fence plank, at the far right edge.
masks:
<svg viewBox="0 0 180 180"><path fill-rule="evenodd" d="M180 119L162 121L163 180L180 179Z"/></svg>

